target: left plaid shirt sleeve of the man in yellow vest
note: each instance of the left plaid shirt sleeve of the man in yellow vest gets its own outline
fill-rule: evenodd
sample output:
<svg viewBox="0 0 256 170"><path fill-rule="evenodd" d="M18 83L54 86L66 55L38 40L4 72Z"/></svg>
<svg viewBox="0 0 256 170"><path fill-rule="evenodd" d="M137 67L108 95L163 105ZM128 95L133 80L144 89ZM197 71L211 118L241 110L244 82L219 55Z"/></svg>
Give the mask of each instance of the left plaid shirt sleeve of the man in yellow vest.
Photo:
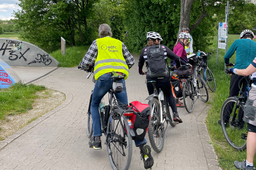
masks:
<svg viewBox="0 0 256 170"><path fill-rule="evenodd" d="M90 46L89 50L85 54L83 61L82 61L82 68L84 70L89 69L89 65L95 60L95 58L98 55L98 47L97 47L97 40L94 40L92 42L92 45Z"/></svg>

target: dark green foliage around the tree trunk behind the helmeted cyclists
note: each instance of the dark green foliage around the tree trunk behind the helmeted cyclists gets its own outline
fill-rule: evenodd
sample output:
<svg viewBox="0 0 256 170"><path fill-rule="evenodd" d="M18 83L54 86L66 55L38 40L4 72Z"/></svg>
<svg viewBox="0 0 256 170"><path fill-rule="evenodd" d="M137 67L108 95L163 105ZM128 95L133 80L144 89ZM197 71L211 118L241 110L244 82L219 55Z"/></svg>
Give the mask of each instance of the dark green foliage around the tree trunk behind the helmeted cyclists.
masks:
<svg viewBox="0 0 256 170"><path fill-rule="evenodd" d="M191 25L201 14L200 7L200 0L195 0L191 9ZM147 32L155 31L162 36L162 44L173 49L177 40L179 21L179 0L131 0L127 6L125 19L129 31L127 46L131 51L138 53L146 45ZM191 33L194 50L203 50L205 46L212 44L212 36L216 35L215 22L215 18L209 15L194 29Z"/></svg>

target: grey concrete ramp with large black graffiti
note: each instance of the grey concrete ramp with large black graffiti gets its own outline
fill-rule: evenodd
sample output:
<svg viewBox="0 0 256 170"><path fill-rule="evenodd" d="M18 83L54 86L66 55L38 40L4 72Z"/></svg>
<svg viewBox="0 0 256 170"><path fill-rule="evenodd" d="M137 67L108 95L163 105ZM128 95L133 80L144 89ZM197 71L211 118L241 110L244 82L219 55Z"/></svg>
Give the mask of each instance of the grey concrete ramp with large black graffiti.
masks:
<svg viewBox="0 0 256 170"><path fill-rule="evenodd" d="M58 67L59 62L38 46L0 38L0 59L9 66Z"/></svg>

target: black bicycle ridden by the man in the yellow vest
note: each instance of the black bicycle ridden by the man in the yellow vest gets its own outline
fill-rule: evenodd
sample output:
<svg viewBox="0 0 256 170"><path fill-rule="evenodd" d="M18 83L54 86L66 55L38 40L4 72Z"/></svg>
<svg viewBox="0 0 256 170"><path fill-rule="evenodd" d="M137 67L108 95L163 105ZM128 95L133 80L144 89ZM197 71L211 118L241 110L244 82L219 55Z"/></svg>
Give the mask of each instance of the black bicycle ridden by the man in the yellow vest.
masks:
<svg viewBox="0 0 256 170"><path fill-rule="evenodd" d="M80 65L81 63L79 64L78 69L82 69ZM93 69L87 78L89 78L92 73ZM114 82L118 82L124 79L124 76L113 71L111 78L114 79ZM109 104L104 107L103 112L101 111L101 124L102 133L106 136L105 144L107 145L110 164L114 170L128 170L132 160L132 136L135 136L131 129L130 116L135 113L131 108L127 107L127 105L124 105L115 98L113 88L109 90L108 93ZM92 122L90 121L91 102L92 94L87 113L88 136L91 136L92 134ZM90 130L88 131L88 129Z"/></svg>

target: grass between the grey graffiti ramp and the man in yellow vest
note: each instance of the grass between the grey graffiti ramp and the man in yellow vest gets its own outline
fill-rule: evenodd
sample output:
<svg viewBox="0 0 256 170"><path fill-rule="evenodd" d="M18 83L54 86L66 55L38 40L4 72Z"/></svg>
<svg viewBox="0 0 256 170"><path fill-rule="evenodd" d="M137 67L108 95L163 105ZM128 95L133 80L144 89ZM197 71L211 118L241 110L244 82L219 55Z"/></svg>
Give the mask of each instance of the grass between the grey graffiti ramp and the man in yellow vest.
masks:
<svg viewBox="0 0 256 170"><path fill-rule="evenodd" d="M66 49L65 55L61 54L61 50L57 50L51 53L57 61L59 61L59 67L76 67L80 61L83 60L86 52L90 46L73 46Z"/></svg>

